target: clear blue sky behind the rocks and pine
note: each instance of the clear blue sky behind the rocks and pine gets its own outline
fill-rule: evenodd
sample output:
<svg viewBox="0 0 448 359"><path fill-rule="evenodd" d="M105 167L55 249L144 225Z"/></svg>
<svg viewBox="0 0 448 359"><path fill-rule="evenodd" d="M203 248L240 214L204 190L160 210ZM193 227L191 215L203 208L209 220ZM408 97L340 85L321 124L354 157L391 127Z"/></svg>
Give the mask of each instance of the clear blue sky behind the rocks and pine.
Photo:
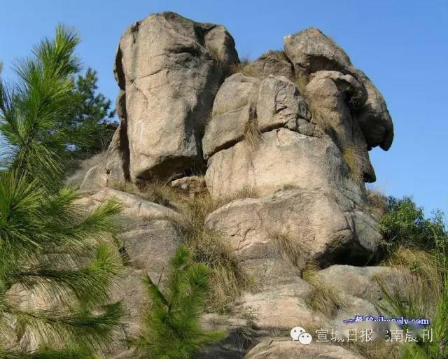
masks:
<svg viewBox="0 0 448 359"><path fill-rule="evenodd" d="M346 50L386 98L395 125L388 152L370 152L377 187L413 195L426 213L448 213L448 1L446 0L0 0L0 60L29 54L58 22L77 27L78 53L99 73L100 90L115 99L113 55L120 34L150 13L172 10L224 24L240 57L281 49L283 36L318 27Z"/></svg>

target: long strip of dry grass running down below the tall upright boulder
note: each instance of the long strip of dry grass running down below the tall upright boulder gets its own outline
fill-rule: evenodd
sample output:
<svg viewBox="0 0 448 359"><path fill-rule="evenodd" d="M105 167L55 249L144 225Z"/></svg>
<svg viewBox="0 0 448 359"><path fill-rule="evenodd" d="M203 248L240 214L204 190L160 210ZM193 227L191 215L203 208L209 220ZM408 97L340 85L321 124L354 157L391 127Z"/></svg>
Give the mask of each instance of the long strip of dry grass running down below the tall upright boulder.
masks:
<svg viewBox="0 0 448 359"><path fill-rule="evenodd" d="M228 304L243 290L251 290L253 281L237 266L232 248L225 243L221 232L207 228L205 220L216 209L236 199L258 198L259 193L244 188L234 195L213 199L207 190L190 198L169 183L153 181L144 185L131 183L114 185L113 188L130 192L150 202L168 206L181 214L174 223L183 237L183 244L191 251L196 262L204 263L210 270L207 309L214 312L228 311ZM170 220L173 220L172 218Z"/></svg>

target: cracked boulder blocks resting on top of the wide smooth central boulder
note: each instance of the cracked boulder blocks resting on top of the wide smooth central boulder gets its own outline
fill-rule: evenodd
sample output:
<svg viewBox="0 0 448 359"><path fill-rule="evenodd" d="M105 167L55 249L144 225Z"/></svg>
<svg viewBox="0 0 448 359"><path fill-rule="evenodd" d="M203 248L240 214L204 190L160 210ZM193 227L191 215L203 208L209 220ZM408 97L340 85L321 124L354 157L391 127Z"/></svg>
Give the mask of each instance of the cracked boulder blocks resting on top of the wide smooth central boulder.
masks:
<svg viewBox="0 0 448 359"><path fill-rule="evenodd" d="M269 74L263 80L235 73L216 95L214 110L205 127L202 148L209 158L231 148L247 136L278 127L300 126L312 134L311 114L300 92L285 76ZM252 132L252 134L251 134Z"/></svg>

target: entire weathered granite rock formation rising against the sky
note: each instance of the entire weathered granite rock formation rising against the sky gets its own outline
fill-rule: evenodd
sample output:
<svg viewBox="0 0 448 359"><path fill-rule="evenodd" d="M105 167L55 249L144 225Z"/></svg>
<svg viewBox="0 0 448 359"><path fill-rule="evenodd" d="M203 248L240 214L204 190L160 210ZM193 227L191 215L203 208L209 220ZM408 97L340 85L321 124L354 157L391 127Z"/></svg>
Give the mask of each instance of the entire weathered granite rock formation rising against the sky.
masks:
<svg viewBox="0 0 448 359"><path fill-rule="evenodd" d="M80 201L116 197L132 223L116 293L128 326L117 342L139 328L141 276L158 279L186 240L183 206L207 197L214 206L199 230L219 237L250 285L231 290L225 310L209 308L204 328L229 336L204 358L361 358L342 346L300 346L289 331L377 313L374 278L395 269L374 267L381 234L365 182L375 181L369 151L390 148L393 124L377 87L328 36L311 28L283 41L283 51L240 62L225 27L175 13L135 22L120 38L120 127ZM183 204L144 199L139 190L152 183L183 191ZM328 290L324 308L318 288ZM118 347L114 356L132 358Z"/></svg>

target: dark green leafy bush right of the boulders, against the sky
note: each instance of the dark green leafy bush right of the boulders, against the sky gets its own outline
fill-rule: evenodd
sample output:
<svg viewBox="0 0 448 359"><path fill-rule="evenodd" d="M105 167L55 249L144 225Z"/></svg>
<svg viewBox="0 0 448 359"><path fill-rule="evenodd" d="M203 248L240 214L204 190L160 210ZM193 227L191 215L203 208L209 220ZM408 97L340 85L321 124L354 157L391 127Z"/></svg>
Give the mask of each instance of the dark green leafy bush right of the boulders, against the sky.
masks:
<svg viewBox="0 0 448 359"><path fill-rule="evenodd" d="M380 222L381 232L390 248L397 246L433 249L447 241L444 216L440 211L425 218L423 209L412 197L388 198L388 209Z"/></svg>

